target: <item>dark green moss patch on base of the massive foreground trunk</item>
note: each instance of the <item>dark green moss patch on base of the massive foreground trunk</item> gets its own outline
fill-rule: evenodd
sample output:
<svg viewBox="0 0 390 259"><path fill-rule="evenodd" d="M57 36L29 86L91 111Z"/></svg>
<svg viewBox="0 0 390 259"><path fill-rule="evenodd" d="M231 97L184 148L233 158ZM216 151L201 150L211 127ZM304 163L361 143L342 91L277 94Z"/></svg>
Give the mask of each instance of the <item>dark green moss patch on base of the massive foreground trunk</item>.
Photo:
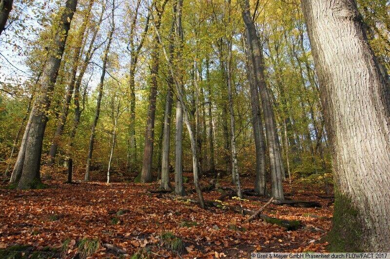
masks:
<svg viewBox="0 0 390 259"><path fill-rule="evenodd" d="M335 192L333 227L327 236L330 252L362 252L362 225L351 199Z"/></svg>

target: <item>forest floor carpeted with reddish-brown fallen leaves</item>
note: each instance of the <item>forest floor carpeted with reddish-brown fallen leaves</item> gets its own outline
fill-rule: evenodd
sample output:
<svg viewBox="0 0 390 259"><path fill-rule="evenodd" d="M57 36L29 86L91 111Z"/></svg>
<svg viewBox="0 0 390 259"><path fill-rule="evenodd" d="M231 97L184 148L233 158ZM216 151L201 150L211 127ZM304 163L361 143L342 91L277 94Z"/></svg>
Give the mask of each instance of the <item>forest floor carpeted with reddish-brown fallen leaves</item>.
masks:
<svg viewBox="0 0 390 259"><path fill-rule="evenodd" d="M325 196L319 186L297 180L290 186L286 181L284 191L289 199L314 200L321 208L270 204L262 212L278 219L300 220L301 227L288 231L260 219L247 222L249 216L224 206L204 210L190 201L151 193L158 188L157 182L106 184L104 179L93 179L65 184L65 170L43 168L42 179L47 179L48 173L51 179L44 181L45 189L8 190L1 184L1 258L5 255L1 253L12 251L22 251L19 256L26 258L37 253L56 258L119 254L138 256L133 258L250 258L251 252L326 251L324 237L331 228L333 204L331 199L317 196ZM186 176L191 179L190 173ZM81 177L76 174L75 179ZM207 180L203 178L202 185L208 185ZM253 188L252 177L241 181L244 189ZM234 187L228 178L220 184ZM193 189L191 180L185 185L187 190ZM220 196L217 191L204 192L206 200ZM196 193L188 198L196 199ZM227 198L223 205L258 210L266 201L266 197Z"/></svg>

